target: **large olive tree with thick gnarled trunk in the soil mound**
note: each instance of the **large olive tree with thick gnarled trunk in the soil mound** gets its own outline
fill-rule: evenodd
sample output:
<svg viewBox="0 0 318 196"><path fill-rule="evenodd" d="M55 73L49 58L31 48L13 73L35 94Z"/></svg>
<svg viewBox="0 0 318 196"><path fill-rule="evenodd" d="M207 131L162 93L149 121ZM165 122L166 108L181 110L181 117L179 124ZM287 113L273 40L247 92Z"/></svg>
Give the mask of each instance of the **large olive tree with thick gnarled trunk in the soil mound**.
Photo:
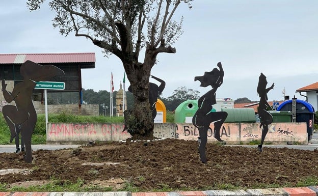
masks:
<svg viewBox="0 0 318 196"><path fill-rule="evenodd" d="M106 54L115 54L122 62L134 94L133 127L136 136L153 135L149 104L149 77L158 53L175 53L171 45L182 34L182 18L172 16L181 3L191 8L193 0L51 0L56 11L53 26L62 35L75 32L85 37ZM31 11L40 9L45 0L28 0ZM147 25L147 28L145 27ZM147 33L145 32L147 29ZM139 54L145 48L144 61ZM133 135L134 136L134 135Z"/></svg>

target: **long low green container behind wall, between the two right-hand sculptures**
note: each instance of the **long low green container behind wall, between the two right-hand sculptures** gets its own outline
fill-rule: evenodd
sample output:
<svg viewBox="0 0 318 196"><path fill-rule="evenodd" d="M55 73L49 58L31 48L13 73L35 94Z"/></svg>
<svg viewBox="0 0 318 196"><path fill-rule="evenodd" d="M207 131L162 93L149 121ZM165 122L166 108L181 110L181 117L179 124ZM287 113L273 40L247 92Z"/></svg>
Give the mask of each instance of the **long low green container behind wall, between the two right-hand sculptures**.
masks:
<svg viewBox="0 0 318 196"><path fill-rule="evenodd" d="M226 123L255 123L255 111L253 108L222 108L226 111Z"/></svg>

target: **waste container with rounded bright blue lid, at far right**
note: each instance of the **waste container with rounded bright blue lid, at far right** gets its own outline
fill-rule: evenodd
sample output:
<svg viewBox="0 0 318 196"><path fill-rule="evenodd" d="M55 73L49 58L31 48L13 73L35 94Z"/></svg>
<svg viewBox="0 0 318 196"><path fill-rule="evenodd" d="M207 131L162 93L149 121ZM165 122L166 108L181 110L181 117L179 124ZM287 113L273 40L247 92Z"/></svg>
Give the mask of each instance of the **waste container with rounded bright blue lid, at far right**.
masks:
<svg viewBox="0 0 318 196"><path fill-rule="evenodd" d="M276 110L292 111L292 100L282 102ZM296 122L307 123L308 141L310 141L312 137L314 115L314 108L310 103L304 100L296 100Z"/></svg>

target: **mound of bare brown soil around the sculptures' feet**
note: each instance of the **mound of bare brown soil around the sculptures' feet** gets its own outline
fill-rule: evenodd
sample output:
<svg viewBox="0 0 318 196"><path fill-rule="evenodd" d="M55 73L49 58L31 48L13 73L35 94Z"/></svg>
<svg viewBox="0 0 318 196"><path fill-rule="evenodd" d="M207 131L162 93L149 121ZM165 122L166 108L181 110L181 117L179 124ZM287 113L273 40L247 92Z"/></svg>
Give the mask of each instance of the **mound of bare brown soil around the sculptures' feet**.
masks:
<svg viewBox="0 0 318 196"><path fill-rule="evenodd" d="M298 186L306 177L318 176L318 150L230 147L207 144L207 163L199 161L198 143L179 139L151 142L111 142L76 149L33 152L32 163L23 153L0 153L0 170L29 172L0 175L7 186L30 186L51 179L76 182L114 190L125 182L143 191L172 188L213 188L232 184L243 188L270 184ZM17 170L18 171L18 170Z"/></svg>

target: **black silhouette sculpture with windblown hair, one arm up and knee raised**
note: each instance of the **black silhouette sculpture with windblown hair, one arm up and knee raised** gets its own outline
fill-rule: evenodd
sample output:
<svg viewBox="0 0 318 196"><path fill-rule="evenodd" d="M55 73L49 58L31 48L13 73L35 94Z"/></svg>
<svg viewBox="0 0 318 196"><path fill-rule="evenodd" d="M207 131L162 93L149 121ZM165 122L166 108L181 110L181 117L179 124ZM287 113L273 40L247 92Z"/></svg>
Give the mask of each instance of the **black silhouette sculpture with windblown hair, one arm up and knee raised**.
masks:
<svg viewBox="0 0 318 196"><path fill-rule="evenodd" d="M212 105L217 103L216 91L222 85L224 76L221 62L219 62L217 66L220 68L220 70L218 70L218 68L214 68L210 72L204 72L203 76L196 76L194 78L194 81L199 80L201 82L200 87L212 87L210 91L199 98L199 109L192 118L192 123L198 128L200 134L199 153L200 160L203 163L206 163L205 146L207 143L207 130L209 125L214 123L214 137L218 139L218 141L223 142L220 137L220 129L227 117L227 113L225 111L212 111Z"/></svg>

